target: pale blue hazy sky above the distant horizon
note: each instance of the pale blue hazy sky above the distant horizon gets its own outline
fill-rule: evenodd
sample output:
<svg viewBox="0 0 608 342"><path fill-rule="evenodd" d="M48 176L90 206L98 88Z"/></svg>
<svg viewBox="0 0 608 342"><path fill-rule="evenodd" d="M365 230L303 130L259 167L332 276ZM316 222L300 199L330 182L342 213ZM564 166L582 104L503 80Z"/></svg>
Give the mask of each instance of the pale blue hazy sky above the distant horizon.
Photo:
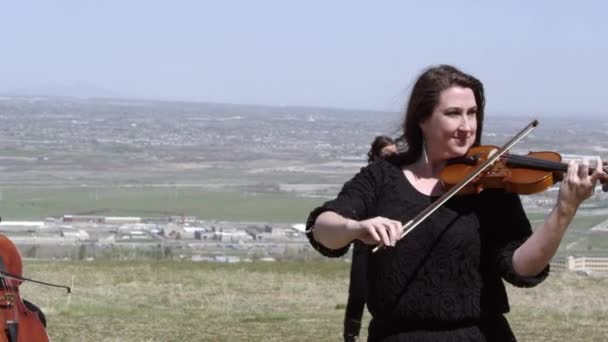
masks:
<svg viewBox="0 0 608 342"><path fill-rule="evenodd" d="M488 111L608 118L608 5L489 3L7 1L0 92L398 110L448 63Z"/></svg>

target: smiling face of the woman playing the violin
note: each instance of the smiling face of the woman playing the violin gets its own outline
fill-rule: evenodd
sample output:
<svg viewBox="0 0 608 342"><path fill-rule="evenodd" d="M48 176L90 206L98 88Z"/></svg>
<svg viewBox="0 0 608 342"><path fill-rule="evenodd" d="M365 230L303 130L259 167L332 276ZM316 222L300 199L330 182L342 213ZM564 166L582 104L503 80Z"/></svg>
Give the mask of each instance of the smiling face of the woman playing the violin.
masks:
<svg viewBox="0 0 608 342"><path fill-rule="evenodd" d="M470 88L453 86L439 94L431 117L420 123L430 160L463 156L475 142L477 103Z"/></svg>

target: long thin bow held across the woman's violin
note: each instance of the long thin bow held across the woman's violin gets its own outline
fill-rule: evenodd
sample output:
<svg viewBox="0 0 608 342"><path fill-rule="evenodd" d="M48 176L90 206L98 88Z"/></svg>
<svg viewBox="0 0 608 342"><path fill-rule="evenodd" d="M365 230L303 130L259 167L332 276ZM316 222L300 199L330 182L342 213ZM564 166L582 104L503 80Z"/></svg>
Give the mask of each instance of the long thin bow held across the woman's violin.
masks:
<svg viewBox="0 0 608 342"><path fill-rule="evenodd" d="M467 186L471 181L473 181L480 173L485 171L488 167L490 167L494 162L496 162L503 154L505 154L508 150L511 149L515 144L517 144L521 139L523 139L528 133L530 133L534 128L538 126L538 120L532 120L530 124L528 124L524 129L522 129L517 135L515 135L511 140L509 140L502 148L499 150L495 150L495 153L492 154L485 162L479 165L471 174L465 177L460 183L456 184L452 187L448 192L443 194L441 197L437 199L437 201L433 202L433 204L429 205L426 209L421 211L418 215L416 215L413 219L408 221L403 225L403 233L401 233L401 238L409 234L414 228L416 228L422 221L424 221L427 217L429 217L435 210L439 209L445 202L447 202L452 196L454 196L458 191ZM378 244L372 252L377 252L384 245L382 243Z"/></svg>

